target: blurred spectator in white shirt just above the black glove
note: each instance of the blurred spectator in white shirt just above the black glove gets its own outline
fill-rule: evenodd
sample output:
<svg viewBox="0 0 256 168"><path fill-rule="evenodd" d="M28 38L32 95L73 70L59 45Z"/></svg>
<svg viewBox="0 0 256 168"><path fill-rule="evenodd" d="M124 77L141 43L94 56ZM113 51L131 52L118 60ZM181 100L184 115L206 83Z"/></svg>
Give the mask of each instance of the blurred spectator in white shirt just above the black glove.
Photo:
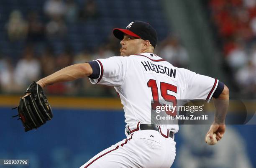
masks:
<svg viewBox="0 0 256 168"><path fill-rule="evenodd" d="M18 61L15 67L15 83L20 89L28 87L28 84L39 79L40 70L40 62L34 57L33 48L31 46L26 47L23 58Z"/></svg>

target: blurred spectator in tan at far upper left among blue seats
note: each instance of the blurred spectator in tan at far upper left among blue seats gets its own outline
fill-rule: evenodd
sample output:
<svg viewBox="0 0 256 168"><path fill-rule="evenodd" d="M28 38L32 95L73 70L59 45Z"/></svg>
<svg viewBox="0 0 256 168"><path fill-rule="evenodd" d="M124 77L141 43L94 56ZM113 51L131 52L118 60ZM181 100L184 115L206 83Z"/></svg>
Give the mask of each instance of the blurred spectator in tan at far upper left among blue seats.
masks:
<svg viewBox="0 0 256 168"><path fill-rule="evenodd" d="M28 24L18 10L13 10L13 12L10 13L6 27L10 41L18 41L27 36Z"/></svg>

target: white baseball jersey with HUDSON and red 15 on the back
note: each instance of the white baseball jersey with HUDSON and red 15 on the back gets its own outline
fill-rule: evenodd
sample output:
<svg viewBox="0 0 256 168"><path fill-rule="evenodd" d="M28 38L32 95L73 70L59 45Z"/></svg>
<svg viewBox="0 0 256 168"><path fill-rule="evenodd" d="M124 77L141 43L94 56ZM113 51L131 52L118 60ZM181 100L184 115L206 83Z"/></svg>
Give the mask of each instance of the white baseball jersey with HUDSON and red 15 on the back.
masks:
<svg viewBox="0 0 256 168"><path fill-rule="evenodd" d="M217 79L177 68L153 53L113 56L96 61L100 66L100 76L90 81L115 87L124 106L126 127L131 129L138 122L151 123L151 108L158 100L210 100L218 86ZM162 127L174 133L179 129L175 124Z"/></svg>

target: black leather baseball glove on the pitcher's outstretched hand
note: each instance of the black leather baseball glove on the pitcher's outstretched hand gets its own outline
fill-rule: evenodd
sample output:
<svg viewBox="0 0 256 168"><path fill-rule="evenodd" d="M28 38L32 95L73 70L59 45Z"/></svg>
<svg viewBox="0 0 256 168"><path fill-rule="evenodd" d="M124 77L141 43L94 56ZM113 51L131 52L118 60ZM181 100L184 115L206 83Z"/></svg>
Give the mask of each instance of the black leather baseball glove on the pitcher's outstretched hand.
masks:
<svg viewBox="0 0 256 168"><path fill-rule="evenodd" d="M51 120L53 115L43 88L35 81L29 85L25 96L20 98L18 105L18 120L21 119L25 132L37 129L46 121Z"/></svg>

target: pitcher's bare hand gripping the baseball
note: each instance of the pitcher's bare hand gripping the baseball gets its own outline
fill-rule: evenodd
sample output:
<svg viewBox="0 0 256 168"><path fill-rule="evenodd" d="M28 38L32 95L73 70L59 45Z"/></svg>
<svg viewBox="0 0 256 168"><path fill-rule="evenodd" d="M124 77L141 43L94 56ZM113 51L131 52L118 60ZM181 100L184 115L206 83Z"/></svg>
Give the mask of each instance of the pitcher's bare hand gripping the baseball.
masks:
<svg viewBox="0 0 256 168"><path fill-rule="evenodd" d="M206 142L206 137L209 134L209 137L211 140L213 140L213 134L216 134L216 139L217 141L221 140L221 138L223 137L224 133L226 130L226 125L225 124L217 124L217 123L212 123L212 125L210 126L209 131L206 133L205 135L205 142Z"/></svg>

